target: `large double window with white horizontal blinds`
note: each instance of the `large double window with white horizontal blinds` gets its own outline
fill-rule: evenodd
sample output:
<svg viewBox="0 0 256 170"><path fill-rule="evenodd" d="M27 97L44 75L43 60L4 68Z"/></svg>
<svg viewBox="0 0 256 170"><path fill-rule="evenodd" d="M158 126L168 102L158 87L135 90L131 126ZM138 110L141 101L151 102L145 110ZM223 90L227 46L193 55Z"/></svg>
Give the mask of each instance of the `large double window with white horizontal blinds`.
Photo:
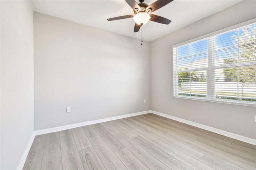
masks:
<svg viewBox="0 0 256 170"><path fill-rule="evenodd" d="M255 20L174 45L173 55L174 97L256 107Z"/></svg>

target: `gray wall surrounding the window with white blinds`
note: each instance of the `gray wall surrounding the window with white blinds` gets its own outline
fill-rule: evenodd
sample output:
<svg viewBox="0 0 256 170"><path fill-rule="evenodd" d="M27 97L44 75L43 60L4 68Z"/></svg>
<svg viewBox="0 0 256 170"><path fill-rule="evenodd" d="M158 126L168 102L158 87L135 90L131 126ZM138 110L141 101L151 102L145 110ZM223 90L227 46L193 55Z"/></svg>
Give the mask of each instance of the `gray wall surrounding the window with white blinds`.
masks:
<svg viewBox="0 0 256 170"><path fill-rule="evenodd" d="M152 42L152 110L256 139L256 107L173 98L172 45L256 18L256 1L243 1Z"/></svg>

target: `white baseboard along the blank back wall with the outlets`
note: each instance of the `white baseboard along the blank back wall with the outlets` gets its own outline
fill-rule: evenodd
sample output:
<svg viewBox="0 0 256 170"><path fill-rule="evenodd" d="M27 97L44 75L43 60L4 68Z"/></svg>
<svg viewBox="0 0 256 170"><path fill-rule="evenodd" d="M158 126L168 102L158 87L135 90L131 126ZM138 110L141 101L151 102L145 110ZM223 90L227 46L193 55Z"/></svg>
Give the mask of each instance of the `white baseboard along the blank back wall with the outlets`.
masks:
<svg viewBox="0 0 256 170"><path fill-rule="evenodd" d="M82 127L82 126L86 126L86 125L92 125L92 124L102 123L102 122L107 122L107 121L114 121L116 119L123 119L123 118L126 118L126 117L144 115L144 114L147 114L147 113L151 113L151 111L143 111L143 112L131 113L131 114L122 115L122 116L110 117L110 118L105 118L105 119L98 119L98 120L95 120L95 121L88 121L88 122L76 123L76 124L72 124L72 125L65 125L65 126L61 126L61 127L54 127L54 128L43 129L43 130L36 130L36 131L34 131L34 133L35 133L35 135L40 135L40 134L58 132L58 131L67 130L67 129L70 129L70 128Z"/></svg>

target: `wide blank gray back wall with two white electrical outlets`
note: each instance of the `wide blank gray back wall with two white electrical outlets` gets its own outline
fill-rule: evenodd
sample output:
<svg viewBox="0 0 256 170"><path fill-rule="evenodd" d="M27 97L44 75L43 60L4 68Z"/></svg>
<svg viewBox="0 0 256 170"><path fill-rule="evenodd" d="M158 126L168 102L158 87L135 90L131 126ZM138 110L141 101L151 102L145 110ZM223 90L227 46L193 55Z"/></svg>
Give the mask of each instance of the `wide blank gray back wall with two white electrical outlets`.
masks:
<svg viewBox="0 0 256 170"><path fill-rule="evenodd" d="M149 42L34 13L34 130L150 105Z"/></svg>

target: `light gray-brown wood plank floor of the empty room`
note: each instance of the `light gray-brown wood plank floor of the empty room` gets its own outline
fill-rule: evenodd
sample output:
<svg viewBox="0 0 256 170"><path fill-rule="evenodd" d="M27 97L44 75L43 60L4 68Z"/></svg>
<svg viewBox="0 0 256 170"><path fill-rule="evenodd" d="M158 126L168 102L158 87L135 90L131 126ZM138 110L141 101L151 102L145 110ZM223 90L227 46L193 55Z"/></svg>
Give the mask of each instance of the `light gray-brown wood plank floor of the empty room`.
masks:
<svg viewBox="0 0 256 170"><path fill-rule="evenodd" d="M256 146L154 114L35 137L23 170L256 170Z"/></svg>

